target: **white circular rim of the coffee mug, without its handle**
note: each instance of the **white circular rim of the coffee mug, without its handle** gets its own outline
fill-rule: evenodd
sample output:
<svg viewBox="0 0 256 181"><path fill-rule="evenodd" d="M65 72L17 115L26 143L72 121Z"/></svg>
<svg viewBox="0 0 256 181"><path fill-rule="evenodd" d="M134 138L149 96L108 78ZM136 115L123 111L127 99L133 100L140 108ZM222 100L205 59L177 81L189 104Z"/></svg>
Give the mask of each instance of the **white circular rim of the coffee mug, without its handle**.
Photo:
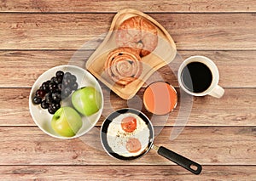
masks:
<svg viewBox="0 0 256 181"><path fill-rule="evenodd" d="M205 64L205 62L201 62L201 61L191 61L191 59L207 59L207 63L209 64ZM210 71L214 71L212 72L212 83L209 86L209 88L207 88L207 90L205 90L204 92L201 93L193 93L191 91L189 91L187 88L185 88L183 86L183 82L181 80L181 72L183 71L183 68L188 65L191 62L201 62L205 65L207 65L207 67L210 69ZM209 93L212 92L213 88L215 88L216 86L218 86L218 81L219 81L219 73L218 73L218 67L217 65L215 65L215 63L212 61L212 59L207 58L206 56L202 56L202 55L194 55L194 56L190 56L189 58L183 60L183 63L179 66L178 71L177 71L177 81L179 86L186 92L189 93L191 95L195 95L195 96L205 96Z"/></svg>

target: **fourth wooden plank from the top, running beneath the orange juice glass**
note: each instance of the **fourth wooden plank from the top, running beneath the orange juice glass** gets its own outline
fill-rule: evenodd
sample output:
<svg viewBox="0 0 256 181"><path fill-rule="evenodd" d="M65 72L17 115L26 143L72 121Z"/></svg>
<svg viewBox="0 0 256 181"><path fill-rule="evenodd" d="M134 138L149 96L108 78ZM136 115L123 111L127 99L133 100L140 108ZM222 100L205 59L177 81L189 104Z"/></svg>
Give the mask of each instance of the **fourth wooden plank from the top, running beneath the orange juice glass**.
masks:
<svg viewBox="0 0 256 181"><path fill-rule="evenodd" d="M134 99L127 101L103 88L104 110L97 125L102 125L114 110L129 106L143 110L153 119L154 125L160 126L256 126L255 88L226 88L221 99L211 96L188 99L179 96L177 108L169 116L154 118L143 107L143 91L144 88ZM29 93L30 88L0 88L0 126L35 126L28 108ZM181 101L186 105L186 110L180 107ZM186 124L181 122L187 119Z"/></svg>

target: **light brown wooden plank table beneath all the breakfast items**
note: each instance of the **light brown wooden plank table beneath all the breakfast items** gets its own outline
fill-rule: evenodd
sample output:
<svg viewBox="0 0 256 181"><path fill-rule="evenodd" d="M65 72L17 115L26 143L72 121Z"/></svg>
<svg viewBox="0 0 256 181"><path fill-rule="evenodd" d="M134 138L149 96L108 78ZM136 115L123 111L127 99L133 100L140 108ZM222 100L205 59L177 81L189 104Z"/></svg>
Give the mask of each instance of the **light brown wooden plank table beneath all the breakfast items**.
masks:
<svg viewBox="0 0 256 181"><path fill-rule="evenodd" d="M201 163L201 175L154 150L136 161L115 160L96 149L97 141L86 144L99 136L51 138L30 116L28 97L38 76L68 64L84 42L108 31L114 14L123 8L141 10L163 25L183 59L200 54L218 65L224 97L194 98L189 122L177 139L169 137L178 109L155 139ZM0 179L256 179L255 1L2 0L0 11ZM93 48L84 51L89 56ZM160 72L168 77L165 68ZM177 80L170 83L177 88ZM113 109L127 106L116 94L108 95L104 85L102 89Z"/></svg>

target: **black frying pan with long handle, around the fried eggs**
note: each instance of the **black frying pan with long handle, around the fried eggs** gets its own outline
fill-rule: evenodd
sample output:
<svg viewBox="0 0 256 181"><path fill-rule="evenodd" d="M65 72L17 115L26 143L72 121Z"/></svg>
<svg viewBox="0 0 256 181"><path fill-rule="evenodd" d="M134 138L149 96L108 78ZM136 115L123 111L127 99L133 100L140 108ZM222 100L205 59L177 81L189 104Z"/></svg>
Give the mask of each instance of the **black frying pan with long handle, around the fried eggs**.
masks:
<svg viewBox="0 0 256 181"><path fill-rule="evenodd" d="M113 121L114 118L116 118L117 116L120 116L121 114L125 114L125 113L132 113L132 114L135 114L135 115L139 116L146 123L146 125L148 126L148 129L149 129L148 146L138 156L129 156L129 157L120 156L118 153L115 153L110 148L110 146L108 145L107 133L108 133L109 124ZM201 165L200 164L196 163L195 161L191 161L188 158L185 158L181 155L178 155L177 153L173 152L172 150L168 150L163 146L157 147L153 144L153 141L154 141L154 127L153 127L152 123L149 121L148 117L145 116L139 110L133 110L133 109L130 109L130 108L129 109L125 108L125 109L121 109L121 110L116 110L112 114L110 114L102 124L101 139L102 139L102 146L108 152L108 155L113 156L115 158L118 158L120 160L134 160L134 159L137 159L141 156L144 156L146 153L148 153L148 151L151 148L154 148L154 150L157 150L157 153L160 156L164 156L167 159L169 159L170 161L173 161L173 162L177 163L177 165L189 170L191 173L195 173L195 174L201 173Z"/></svg>

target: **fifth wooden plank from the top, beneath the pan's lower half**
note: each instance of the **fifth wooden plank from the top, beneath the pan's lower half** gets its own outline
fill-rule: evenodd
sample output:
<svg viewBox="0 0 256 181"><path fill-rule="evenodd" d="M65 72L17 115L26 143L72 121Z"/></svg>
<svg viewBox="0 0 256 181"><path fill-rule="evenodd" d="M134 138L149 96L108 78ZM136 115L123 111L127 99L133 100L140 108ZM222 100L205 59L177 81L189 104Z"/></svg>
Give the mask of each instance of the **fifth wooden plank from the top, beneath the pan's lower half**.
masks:
<svg viewBox="0 0 256 181"><path fill-rule="evenodd" d="M154 144L166 146L202 165L255 165L256 127L185 127L170 140L173 127L154 127ZM54 139L38 127L0 127L0 165L173 165L154 150L135 161L113 159L102 150L100 127L79 139Z"/></svg>

